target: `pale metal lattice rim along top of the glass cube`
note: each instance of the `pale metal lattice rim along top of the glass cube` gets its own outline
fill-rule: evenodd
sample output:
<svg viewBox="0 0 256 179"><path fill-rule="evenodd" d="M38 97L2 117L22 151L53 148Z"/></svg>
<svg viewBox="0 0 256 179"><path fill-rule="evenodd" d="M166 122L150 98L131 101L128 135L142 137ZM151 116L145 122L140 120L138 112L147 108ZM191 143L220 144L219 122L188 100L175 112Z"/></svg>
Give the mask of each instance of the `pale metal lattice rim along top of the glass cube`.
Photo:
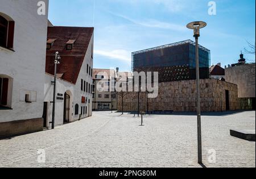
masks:
<svg viewBox="0 0 256 179"><path fill-rule="evenodd" d="M192 45L196 45L195 41L192 41L192 40L184 40L184 41L179 41L179 42L176 42L176 43L172 43L172 44L167 44L167 45L162 45L162 46L159 46L159 47L154 47L154 48L148 48L148 49L144 49L142 51L137 51L137 52L133 52L131 53L131 55L137 55L137 54L140 54L140 53L146 53L146 52L151 52L151 51L156 51L156 50L159 50L159 49L164 49L164 48L169 48L169 47L174 47L174 46L177 46L177 45L183 45L183 44L192 44ZM199 48L200 49L203 49L204 51L207 51L208 53L210 53L210 50L199 45Z"/></svg>

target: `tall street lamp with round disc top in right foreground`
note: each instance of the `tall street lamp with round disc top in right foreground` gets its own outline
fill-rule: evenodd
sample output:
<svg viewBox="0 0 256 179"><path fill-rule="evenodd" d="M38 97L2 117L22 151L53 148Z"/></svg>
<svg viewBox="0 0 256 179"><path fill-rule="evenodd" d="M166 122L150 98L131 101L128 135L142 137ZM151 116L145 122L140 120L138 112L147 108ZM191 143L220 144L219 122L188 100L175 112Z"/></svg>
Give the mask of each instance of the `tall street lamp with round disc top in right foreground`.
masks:
<svg viewBox="0 0 256 179"><path fill-rule="evenodd" d="M200 109L200 74L199 74L199 45L200 28L207 26L207 23L196 21L187 24L187 28L194 30L196 39L196 89L197 89L197 145L198 145L198 163L203 164L202 160L202 136L201 136L201 109Z"/></svg>

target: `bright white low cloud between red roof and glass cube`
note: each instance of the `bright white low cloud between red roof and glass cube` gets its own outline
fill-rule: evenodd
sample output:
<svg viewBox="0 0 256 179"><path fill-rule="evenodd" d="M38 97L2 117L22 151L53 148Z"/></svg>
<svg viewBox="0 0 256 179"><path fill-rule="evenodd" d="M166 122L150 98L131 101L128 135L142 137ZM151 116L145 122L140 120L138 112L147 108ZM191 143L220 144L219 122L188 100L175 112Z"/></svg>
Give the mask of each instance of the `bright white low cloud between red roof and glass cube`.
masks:
<svg viewBox="0 0 256 179"><path fill-rule="evenodd" d="M115 49L113 51L95 50L94 53L97 55L108 57L110 59L117 59L126 62L131 61L131 53L124 49Z"/></svg>

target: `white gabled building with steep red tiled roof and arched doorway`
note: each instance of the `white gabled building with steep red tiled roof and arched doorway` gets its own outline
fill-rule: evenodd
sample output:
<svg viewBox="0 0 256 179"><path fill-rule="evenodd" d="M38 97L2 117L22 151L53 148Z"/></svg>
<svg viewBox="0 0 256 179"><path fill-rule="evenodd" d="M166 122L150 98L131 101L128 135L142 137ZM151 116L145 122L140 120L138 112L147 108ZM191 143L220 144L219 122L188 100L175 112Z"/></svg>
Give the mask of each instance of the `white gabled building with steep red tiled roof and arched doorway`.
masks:
<svg viewBox="0 0 256 179"><path fill-rule="evenodd" d="M92 27L48 27L44 127L52 122L55 52L61 57L57 65L55 126L92 116L93 31Z"/></svg>

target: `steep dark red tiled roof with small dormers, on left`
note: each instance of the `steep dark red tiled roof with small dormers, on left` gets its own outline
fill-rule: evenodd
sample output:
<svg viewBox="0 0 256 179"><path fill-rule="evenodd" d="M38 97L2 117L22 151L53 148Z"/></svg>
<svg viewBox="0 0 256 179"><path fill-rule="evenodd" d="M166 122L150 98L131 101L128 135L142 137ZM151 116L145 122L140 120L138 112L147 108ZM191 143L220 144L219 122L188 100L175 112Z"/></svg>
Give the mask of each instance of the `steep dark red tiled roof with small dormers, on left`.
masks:
<svg viewBox="0 0 256 179"><path fill-rule="evenodd" d="M76 84L93 31L93 27L48 27L47 40L57 40L46 51L46 73L54 74L55 52L58 51L61 60L57 73L63 74L63 80ZM71 50L66 49L69 40L75 40Z"/></svg>

